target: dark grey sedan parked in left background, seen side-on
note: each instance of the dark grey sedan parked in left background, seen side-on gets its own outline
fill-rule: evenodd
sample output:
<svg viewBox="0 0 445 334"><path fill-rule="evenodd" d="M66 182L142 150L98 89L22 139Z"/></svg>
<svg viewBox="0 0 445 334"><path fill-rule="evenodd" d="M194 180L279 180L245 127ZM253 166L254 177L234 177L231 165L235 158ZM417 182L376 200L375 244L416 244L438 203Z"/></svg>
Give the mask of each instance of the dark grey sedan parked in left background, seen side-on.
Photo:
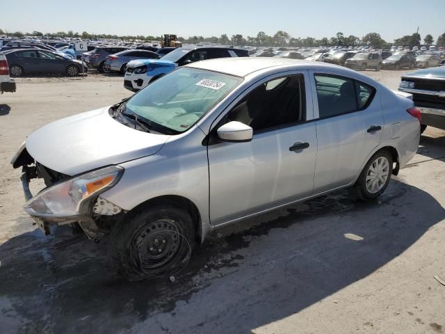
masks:
<svg viewBox="0 0 445 334"><path fill-rule="evenodd" d="M82 62L67 59L59 54L42 49L17 49L2 52L8 59L9 71L13 77L24 74L67 74L78 75L82 72ZM85 72L88 70L86 64Z"/></svg>

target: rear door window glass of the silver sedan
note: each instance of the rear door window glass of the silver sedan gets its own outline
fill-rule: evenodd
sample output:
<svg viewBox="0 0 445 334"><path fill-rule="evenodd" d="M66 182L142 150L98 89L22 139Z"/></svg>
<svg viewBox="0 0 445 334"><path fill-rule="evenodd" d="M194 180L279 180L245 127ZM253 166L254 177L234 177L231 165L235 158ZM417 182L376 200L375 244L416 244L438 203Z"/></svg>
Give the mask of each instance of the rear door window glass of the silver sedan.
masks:
<svg viewBox="0 0 445 334"><path fill-rule="evenodd" d="M320 118L332 117L365 109L375 89L354 79L315 75Z"/></svg>

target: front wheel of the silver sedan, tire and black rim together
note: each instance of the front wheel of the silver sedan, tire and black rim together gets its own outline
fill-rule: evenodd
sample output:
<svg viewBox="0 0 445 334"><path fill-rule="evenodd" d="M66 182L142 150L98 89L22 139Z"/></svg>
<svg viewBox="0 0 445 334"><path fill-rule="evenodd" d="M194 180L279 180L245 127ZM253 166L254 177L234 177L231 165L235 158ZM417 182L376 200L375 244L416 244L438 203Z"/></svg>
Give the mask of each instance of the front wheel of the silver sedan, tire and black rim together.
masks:
<svg viewBox="0 0 445 334"><path fill-rule="evenodd" d="M177 273L190 259L194 238L186 210L172 204L146 207L113 228L113 267L129 281Z"/></svg>

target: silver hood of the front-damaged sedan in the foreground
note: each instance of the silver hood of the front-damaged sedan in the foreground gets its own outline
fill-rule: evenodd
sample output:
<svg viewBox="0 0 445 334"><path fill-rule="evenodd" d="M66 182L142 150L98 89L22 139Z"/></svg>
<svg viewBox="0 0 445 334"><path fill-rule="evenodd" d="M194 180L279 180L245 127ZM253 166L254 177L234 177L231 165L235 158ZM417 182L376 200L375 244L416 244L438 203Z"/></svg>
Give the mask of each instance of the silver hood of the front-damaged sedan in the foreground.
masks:
<svg viewBox="0 0 445 334"><path fill-rule="evenodd" d="M76 175L158 152L170 137L127 127L109 107L49 123L26 138L26 150L45 167Z"/></svg>

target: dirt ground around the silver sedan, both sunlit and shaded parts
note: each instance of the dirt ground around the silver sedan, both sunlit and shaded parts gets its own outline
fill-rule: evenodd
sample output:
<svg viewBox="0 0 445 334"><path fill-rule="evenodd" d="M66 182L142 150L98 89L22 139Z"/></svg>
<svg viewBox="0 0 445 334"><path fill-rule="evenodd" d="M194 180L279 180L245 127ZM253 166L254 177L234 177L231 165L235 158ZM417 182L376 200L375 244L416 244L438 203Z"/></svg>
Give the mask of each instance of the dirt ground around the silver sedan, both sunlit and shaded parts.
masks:
<svg viewBox="0 0 445 334"><path fill-rule="evenodd" d="M403 71L366 71L396 89ZM122 77L22 78L0 95L0 333L445 333L445 132L375 202L345 191L243 221L176 277L127 283L106 240L43 237L9 162L47 122L131 95Z"/></svg>

